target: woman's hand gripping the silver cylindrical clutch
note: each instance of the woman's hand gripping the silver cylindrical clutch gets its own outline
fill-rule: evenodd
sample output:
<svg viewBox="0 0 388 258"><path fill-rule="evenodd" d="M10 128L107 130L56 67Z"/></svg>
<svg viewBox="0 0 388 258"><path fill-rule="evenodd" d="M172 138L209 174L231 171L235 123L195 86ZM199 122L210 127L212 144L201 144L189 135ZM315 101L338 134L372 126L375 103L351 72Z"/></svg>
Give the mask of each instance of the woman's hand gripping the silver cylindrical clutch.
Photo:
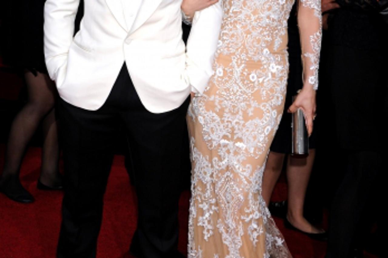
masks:
<svg viewBox="0 0 388 258"><path fill-rule="evenodd" d="M315 119L316 111L315 95L316 92L312 88L312 86L306 85L299 92L298 96L296 96L294 103L288 108L289 113L296 112L298 108L301 108L301 110L303 110L308 136L310 136L313 132L313 120Z"/></svg>

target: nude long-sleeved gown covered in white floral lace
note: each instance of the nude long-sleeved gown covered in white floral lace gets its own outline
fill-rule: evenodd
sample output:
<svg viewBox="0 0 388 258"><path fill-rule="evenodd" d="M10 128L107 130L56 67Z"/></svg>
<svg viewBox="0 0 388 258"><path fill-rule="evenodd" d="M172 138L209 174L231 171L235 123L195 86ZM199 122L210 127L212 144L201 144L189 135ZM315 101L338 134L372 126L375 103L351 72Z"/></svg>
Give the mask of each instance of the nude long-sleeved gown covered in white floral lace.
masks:
<svg viewBox="0 0 388 258"><path fill-rule="evenodd" d="M187 116L192 159L189 258L291 257L262 198L281 120L293 0L224 0L213 64ZM320 0L298 3L306 87L317 89Z"/></svg>

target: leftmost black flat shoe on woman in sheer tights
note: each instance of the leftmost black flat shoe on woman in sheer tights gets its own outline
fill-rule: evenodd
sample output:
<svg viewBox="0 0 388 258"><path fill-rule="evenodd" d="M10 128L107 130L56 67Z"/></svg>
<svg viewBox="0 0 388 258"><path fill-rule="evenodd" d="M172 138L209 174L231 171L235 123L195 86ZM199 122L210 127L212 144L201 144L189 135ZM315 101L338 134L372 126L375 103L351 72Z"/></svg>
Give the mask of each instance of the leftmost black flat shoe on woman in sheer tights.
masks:
<svg viewBox="0 0 388 258"><path fill-rule="evenodd" d="M18 176L3 179L0 183L0 192L15 202L31 203L34 197L23 187Z"/></svg>

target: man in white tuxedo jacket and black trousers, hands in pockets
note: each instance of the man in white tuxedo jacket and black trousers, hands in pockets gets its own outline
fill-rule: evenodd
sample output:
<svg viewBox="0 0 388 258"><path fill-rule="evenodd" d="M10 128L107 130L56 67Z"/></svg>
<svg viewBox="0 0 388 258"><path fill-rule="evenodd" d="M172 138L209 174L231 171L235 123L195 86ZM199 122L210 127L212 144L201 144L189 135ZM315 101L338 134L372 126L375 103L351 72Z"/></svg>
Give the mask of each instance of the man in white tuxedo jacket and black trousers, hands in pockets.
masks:
<svg viewBox="0 0 388 258"><path fill-rule="evenodd" d="M194 16L187 51L182 0L47 0L45 58L61 96L66 189L59 258L94 258L117 124L128 132L139 202L133 255L173 258L191 91L212 74L220 3ZM185 153L185 152L183 152Z"/></svg>

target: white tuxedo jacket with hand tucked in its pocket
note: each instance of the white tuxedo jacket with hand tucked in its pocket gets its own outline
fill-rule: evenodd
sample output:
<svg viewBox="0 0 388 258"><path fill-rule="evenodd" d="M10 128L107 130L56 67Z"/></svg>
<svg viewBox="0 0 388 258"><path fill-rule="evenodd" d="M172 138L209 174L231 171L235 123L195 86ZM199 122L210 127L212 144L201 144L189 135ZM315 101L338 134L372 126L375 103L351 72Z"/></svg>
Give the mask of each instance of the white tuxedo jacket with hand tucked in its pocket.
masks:
<svg viewBox="0 0 388 258"><path fill-rule="evenodd" d="M45 59L61 98L97 110L124 62L152 113L177 108L191 90L202 92L212 74L222 9L217 3L196 13L185 53L181 2L85 0L80 31L73 37L79 0L47 0Z"/></svg>

